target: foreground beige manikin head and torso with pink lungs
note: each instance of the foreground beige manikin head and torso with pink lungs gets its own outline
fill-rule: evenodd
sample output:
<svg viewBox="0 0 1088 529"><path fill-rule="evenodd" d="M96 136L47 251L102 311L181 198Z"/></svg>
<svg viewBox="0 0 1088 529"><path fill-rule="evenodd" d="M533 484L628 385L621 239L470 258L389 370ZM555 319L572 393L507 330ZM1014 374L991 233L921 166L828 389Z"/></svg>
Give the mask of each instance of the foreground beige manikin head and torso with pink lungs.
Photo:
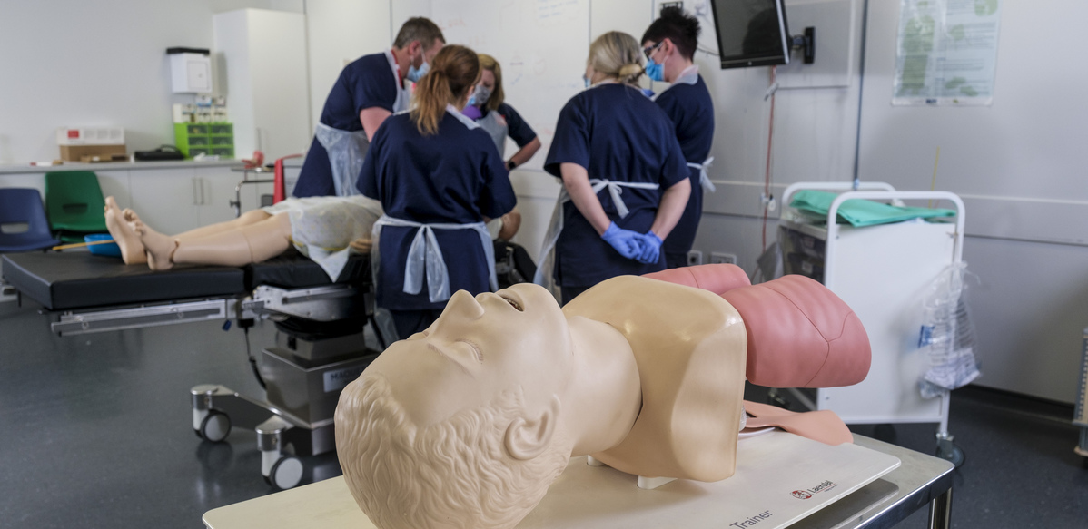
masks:
<svg viewBox="0 0 1088 529"><path fill-rule="evenodd" d="M508 528L571 456L646 477L728 478L745 376L844 386L869 364L856 316L821 285L788 276L744 286L738 270L621 276L564 308L534 285L458 292L342 393L336 444L349 490L383 529ZM800 326L780 333L812 343L751 362L750 345L766 341L753 331L779 332L745 317ZM830 438L849 441L841 431Z"/></svg>

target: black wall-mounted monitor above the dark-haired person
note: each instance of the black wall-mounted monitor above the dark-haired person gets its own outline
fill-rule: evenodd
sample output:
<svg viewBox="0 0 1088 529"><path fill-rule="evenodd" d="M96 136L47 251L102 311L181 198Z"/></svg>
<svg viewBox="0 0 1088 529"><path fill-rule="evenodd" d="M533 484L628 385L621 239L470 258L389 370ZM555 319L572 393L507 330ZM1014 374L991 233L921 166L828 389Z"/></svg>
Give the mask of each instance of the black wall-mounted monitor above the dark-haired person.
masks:
<svg viewBox="0 0 1088 529"><path fill-rule="evenodd" d="M712 0L722 68L789 64L783 0Z"/></svg>

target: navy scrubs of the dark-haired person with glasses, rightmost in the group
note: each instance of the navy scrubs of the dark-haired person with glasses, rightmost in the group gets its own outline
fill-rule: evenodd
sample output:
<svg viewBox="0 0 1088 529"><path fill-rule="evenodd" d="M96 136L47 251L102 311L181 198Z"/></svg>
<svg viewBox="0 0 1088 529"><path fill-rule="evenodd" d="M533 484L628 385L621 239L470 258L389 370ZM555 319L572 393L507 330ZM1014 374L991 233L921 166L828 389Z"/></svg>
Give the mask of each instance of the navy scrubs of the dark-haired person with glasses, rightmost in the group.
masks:
<svg viewBox="0 0 1088 529"><path fill-rule="evenodd" d="M710 144L714 141L714 102L710 91L706 89L703 77L696 74L695 84L677 83L663 91L657 99L657 105L668 114L676 130L677 140L683 151L684 160L702 164L710 155ZM703 186L700 186L700 172L689 167L691 174L691 198L683 216L665 239L662 251L665 253L666 265L669 268L688 265L688 252L695 242L698 221L703 216Z"/></svg>

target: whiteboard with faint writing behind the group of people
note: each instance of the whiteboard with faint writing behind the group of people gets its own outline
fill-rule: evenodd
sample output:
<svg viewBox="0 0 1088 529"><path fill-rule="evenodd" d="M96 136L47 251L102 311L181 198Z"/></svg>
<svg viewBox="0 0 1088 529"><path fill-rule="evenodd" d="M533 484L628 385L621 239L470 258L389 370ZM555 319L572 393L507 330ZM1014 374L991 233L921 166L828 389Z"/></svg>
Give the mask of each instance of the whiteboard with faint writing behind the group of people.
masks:
<svg viewBox="0 0 1088 529"><path fill-rule="evenodd" d="M542 169L559 111L584 87L590 0L434 0L431 16L447 42L499 62L507 104L542 143L526 167Z"/></svg>

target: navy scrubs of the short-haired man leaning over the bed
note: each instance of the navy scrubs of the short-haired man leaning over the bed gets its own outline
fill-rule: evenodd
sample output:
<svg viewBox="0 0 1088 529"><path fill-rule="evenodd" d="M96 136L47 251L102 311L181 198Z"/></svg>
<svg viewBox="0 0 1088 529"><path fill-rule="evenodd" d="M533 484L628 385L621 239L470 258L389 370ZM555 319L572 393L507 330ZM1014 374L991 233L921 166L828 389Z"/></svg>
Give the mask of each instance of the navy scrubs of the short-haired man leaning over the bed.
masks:
<svg viewBox="0 0 1088 529"><path fill-rule="evenodd" d="M363 55L344 67L339 78L325 99L321 123L330 127L355 131L362 130L359 113L363 109L381 108L393 112L397 101L396 75L385 53ZM317 138L310 143L302 169L292 192L295 197L324 197L336 194L333 168L329 153Z"/></svg>

